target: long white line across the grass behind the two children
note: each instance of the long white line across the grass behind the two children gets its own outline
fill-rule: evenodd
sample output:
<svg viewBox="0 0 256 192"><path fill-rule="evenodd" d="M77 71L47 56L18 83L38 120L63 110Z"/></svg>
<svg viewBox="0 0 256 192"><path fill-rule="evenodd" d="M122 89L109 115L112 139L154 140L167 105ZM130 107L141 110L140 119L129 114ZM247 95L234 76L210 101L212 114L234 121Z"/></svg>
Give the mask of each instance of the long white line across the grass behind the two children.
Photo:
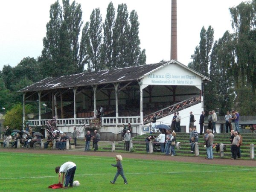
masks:
<svg viewBox="0 0 256 192"><path fill-rule="evenodd" d="M233 170L233 169L232 169ZM255 171L256 169L239 169L239 171ZM212 171L189 171L189 172L144 172L144 173L125 173L125 175L151 175L151 174L181 174L181 173L212 173L212 172L230 172L230 170L212 170ZM79 175L76 174L77 176L95 176L95 175L113 175L114 173L104 173L104 174L83 174ZM15 179L38 179L38 178L50 178L50 177L56 177L55 176L41 176L41 177L13 177L13 178L0 178L0 180L15 180Z"/></svg>

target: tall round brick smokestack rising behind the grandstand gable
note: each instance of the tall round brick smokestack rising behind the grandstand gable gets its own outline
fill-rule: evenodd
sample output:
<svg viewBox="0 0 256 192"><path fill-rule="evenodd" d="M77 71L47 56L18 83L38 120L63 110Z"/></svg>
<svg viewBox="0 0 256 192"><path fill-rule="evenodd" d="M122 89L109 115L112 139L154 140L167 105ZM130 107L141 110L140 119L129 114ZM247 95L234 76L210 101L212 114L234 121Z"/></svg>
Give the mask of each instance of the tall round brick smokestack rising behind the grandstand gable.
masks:
<svg viewBox="0 0 256 192"><path fill-rule="evenodd" d="M171 60L177 60L177 0L172 0Z"/></svg>

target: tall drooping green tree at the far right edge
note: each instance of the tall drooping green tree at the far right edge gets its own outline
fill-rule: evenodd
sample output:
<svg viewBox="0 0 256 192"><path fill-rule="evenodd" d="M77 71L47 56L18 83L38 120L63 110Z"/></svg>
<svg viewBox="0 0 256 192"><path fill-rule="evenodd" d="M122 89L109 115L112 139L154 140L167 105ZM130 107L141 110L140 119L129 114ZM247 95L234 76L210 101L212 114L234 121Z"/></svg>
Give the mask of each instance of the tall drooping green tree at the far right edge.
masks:
<svg viewBox="0 0 256 192"><path fill-rule="evenodd" d="M230 8L232 27L235 30L236 63L233 64L233 76L236 90L236 109L246 114L254 113L250 102L244 102L244 93L249 90L250 101L256 100L256 1L242 2ZM243 102L242 102L243 101ZM243 103L244 106L240 104ZM247 110L243 110L246 108Z"/></svg>

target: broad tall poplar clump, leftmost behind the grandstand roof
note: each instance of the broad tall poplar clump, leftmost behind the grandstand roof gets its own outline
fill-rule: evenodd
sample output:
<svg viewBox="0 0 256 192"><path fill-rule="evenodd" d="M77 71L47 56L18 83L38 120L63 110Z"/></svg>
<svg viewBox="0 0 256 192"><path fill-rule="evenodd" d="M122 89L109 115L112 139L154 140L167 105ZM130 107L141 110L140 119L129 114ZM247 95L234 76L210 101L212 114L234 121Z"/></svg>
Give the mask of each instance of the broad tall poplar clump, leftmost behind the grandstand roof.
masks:
<svg viewBox="0 0 256 192"><path fill-rule="evenodd" d="M81 5L63 0L63 9L58 1L51 5L47 23L44 49L38 59L44 77L81 73L79 63L79 34L81 30ZM80 52L83 53L83 52Z"/></svg>

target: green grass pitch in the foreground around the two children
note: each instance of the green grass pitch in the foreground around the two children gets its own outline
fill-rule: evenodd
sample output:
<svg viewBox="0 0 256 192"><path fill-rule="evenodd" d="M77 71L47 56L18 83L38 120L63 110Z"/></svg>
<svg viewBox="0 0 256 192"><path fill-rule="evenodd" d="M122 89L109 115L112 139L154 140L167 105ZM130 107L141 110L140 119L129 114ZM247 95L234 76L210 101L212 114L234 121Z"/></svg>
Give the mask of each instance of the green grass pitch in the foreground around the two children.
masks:
<svg viewBox="0 0 256 192"><path fill-rule="evenodd" d="M0 191L49 192L47 186L58 183L54 169L62 163L76 163L74 180L80 186L67 189L76 192L216 192L255 191L256 167L224 166L177 161L124 158L122 166L128 185L122 177L111 184L116 174L115 157L75 155L0 153Z"/></svg>

